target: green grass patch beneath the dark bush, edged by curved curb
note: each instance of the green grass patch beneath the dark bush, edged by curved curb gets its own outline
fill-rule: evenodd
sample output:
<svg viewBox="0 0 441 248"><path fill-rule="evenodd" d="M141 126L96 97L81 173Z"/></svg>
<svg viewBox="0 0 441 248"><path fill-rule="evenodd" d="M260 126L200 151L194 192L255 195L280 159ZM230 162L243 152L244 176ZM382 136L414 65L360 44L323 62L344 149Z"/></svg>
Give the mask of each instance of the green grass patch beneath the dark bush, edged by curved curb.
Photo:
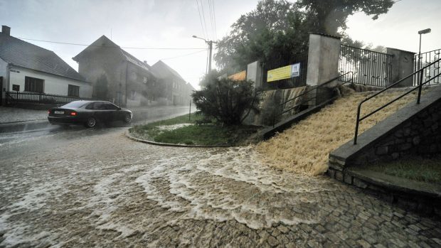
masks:
<svg viewBox="0 0 441 248"><path fill-rule="evenodd" d="M169 144L187 144L203 146L219 145L244 145L249 141L250 136L257 133L257 126L219 126L216 124L196 124L203 116L188 114L173 119L166 119L142 126L134 126L129 129L130 133L139 138ZM169 126L175 124L193 124L180 127L174 130L159 129L158 126Z"/></svg>

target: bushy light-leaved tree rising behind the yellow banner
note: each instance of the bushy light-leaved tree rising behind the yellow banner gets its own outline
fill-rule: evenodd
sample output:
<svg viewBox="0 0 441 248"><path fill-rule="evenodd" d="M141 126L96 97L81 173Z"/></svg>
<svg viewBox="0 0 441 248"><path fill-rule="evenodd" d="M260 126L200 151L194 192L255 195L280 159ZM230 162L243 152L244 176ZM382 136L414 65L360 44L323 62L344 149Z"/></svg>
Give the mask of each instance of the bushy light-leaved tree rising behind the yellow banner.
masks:
<svg viewBox="0 0 441 248"><path fill-rule="evenodd" d="M255 60L288 60L306 53L310 26L307 16L289 1L259 1L256 9L240 16L229 36L216 45L217 65L237 71Z"/></svg>

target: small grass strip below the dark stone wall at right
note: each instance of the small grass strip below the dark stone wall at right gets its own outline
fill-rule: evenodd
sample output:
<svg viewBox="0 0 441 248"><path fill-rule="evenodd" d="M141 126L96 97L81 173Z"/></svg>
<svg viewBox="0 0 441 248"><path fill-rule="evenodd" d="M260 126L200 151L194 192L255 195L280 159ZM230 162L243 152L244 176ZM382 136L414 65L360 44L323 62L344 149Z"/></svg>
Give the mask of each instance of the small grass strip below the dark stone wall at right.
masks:
<svg viewBox="0 0 441 248"><path fill-rule="evenodd" d="M366 169L426 183L441 183L441 156L378 163L366 166Z"/></svg>

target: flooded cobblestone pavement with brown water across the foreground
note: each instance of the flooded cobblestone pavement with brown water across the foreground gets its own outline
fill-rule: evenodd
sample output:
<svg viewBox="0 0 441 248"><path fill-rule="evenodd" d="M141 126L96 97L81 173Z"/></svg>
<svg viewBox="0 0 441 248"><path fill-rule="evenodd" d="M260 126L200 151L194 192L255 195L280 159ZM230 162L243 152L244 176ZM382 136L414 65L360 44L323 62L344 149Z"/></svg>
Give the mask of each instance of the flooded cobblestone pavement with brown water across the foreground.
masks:
<svg viewBox="0 0 441 248"><path fill-rule="evenodd" d="M441 247L441 222L252 147L81 130L0 147L0 247Z"/></svg>

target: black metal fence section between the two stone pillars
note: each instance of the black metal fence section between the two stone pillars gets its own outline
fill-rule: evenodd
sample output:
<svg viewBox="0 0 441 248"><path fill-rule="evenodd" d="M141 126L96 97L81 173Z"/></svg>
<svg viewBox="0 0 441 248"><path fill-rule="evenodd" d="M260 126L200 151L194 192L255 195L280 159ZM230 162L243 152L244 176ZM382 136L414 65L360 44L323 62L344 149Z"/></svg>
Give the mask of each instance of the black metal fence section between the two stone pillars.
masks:
<svg viewBox="0 0 441 248"><path fill-rule="evenodd" d="M341 45L339 75L347 72L354 72L355 83L388 87L392 84L392 55ZM349 81L349 77L347 74L342 80Z"/></svg>

